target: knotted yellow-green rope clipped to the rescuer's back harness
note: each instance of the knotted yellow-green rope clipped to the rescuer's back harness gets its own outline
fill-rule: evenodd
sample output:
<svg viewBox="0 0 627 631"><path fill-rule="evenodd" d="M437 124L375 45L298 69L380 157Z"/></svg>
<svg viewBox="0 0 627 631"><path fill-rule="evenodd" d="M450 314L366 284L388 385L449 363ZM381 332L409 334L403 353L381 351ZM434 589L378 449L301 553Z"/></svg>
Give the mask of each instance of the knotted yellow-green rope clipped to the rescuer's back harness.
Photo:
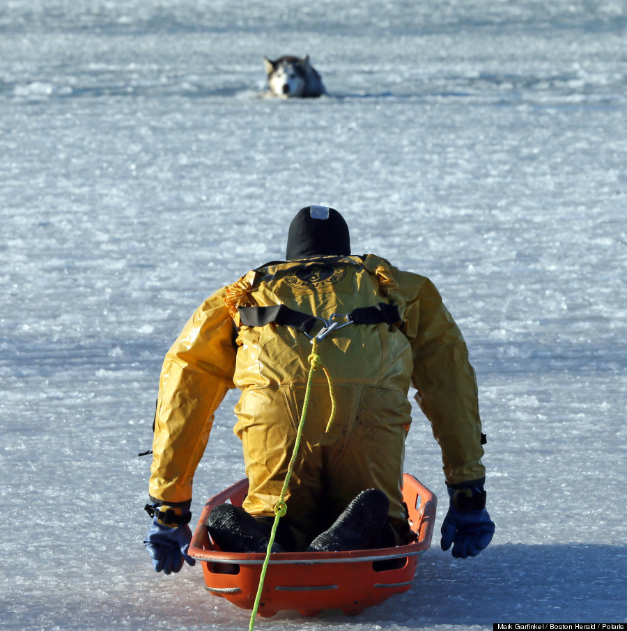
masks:
<svg viewBox="0 0 627 631"><path fill-rule="evenodd" d="M331 395L331 416L329 422L327 423L326 431L328 432L331 423L333 422L335 416L335 396L333 393L333 384L331 382L331 377L329 375L329 371L327 371L326 366L323 364L320 359L320 355L318 355L318 341L314 338L311 343L313 344L313 348L311 350L311 355L307 359L309 359L309 376L307 377L307 389L305 390L305 396L302 403L302 413L300 414L300 422L298 423L298 429L296 430L296 440L294 443L294 449L292 451L292 457L290 459L290 463L288 465L287 474L285 476L285 481L283 483L283 488L281 489L281 494L279 495L279 501L274 506L274 523L272 524L272 531L270 532L270 541L268 542L268 548L265 551L265 559L263 561L263 567L261 568L261 575L259 576L259 586L257 588L257 595L255 597L255 604L253 605L252 613L250 616L250 624L249 631L254 631L255 628L255 618L257 616L257 611L259 609L259 602L261 602L261 591L263 591L263 582L265 581L265 572L268 570L268 563L270 563L270 550L272 550L272 545L274 544L274 537L277 534L277 528L279 527L279 520L287 513L287 504L285 503L285 494L287 492L288 484L290 482L290 478L292 476L292 472L294 469L294 464L296 462L296 456L298 453L298 449L300 447L300 439L302 438L302 428L304 426L304 419L307 416L307 407L309 407L309 395L311 394L311 381L314 377L314 371L316 368L323 368L325 371L325 375L327 375L327 381L329 382L329 391Z"/></svg>

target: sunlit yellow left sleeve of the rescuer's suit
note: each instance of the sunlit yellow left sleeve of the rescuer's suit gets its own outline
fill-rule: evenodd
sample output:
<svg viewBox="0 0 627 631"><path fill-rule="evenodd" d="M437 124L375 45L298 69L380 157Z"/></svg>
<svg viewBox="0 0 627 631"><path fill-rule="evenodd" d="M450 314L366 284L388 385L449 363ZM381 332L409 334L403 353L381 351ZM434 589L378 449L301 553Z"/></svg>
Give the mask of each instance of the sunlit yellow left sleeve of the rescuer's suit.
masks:
<svg viewBox="0 0 627 631"><path fill-rule="evenodd" d="M214 412L233 388L236 349L225 288L201 304L168 351L159 381L153 464L153 501L185 503L207 446Z"/></svg>

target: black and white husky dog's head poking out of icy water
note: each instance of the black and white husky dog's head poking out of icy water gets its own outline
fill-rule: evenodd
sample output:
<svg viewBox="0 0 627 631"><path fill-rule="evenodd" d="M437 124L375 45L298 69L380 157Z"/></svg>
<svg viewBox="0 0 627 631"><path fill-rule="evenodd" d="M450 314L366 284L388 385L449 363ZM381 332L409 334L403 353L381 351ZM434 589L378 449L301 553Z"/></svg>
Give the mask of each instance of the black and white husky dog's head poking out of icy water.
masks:
<svg viewBox="0 0 627 631"><path fill-rule="evenodd" d="M263 62L270 88L266 96L278 96L283 99L310 98L327 93L320 75L309 63L309 55L302 59L287 55L279 57L276 61L264 57Z"/></svg>

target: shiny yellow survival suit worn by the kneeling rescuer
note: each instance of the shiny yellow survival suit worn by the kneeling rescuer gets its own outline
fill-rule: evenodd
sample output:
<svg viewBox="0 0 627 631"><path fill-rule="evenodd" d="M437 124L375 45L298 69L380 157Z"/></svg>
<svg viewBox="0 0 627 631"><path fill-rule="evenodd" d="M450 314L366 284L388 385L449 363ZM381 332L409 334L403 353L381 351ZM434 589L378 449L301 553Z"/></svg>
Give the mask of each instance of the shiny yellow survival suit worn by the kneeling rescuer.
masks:
<svg viewBox="0 0 627 631"><path fill-rule="evenodd" d="M463 336L431 281L370 254L270 263L196 310L162 368L150 497L164 506L191 499L214 412L226 391L238 387L234 431L249 480L244 508L273 516L302 410L311 341L274 322L244 326L238 307L284 304L330 318L380 302L396 305L401 321L351 324L318 345L332 377L336 416L325 433L330 394L323 371L316 371L284 519L303 541L311 540L361 490L379 488L390 499L390 522L405 531L401 476L410 384L442 448L447 482L483 478L477 383Z"/></svg>

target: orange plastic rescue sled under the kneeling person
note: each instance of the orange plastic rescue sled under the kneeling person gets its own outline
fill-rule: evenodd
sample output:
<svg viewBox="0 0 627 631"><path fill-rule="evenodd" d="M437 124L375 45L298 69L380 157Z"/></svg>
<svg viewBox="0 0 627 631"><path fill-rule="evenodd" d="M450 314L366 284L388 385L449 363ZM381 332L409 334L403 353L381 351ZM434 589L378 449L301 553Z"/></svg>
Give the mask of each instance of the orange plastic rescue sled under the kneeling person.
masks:
<svg viewBox="0 0 627 631"><path fill-rule="evenodd" d="M252 609L265 554L222 552L214 546L206 527L214 506L230 501L241 506L248 481L240 480L205 505L189 554L201 561L206 589L243 609ZM414 476L403 476L403 499L408 506L417 540L380 550L350 552L285 552L272 554L265 575L258 614L274 616L295 609L314 616L323 609L359 614L390 596L410 589L418 556L431 545L435 495Z"/></svg>

